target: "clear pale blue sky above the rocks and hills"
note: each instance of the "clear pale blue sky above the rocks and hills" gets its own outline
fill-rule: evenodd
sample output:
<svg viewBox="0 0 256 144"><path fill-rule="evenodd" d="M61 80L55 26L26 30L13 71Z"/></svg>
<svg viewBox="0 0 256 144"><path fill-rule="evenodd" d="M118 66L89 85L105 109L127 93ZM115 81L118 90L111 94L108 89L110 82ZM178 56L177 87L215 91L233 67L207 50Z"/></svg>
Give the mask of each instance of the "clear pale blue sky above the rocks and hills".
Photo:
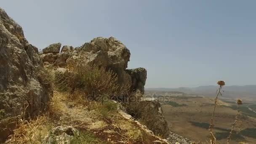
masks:
<svg viewBox="0 0 256 144"><path fill-rule="evenodd" d="M256 84L256 0L1 0L37 48L116 37L147 88Z"/></svg>

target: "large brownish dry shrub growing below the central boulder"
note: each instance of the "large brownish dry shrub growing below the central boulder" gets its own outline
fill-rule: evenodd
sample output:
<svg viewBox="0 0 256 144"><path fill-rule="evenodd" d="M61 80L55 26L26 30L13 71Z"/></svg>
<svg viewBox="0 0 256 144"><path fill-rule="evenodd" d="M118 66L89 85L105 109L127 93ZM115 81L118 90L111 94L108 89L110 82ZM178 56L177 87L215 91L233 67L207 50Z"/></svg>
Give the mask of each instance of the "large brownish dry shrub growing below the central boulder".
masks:
<svg viewBox="0 0 256 144"><path fill-rule="evenodd" d="M82 60L67 65L67 71L56 76L56 85L61 91L74 93L80 91L93 100L125 95L130 89L128 84L118 84L117 74L111 69L85 64Z"/></svg>

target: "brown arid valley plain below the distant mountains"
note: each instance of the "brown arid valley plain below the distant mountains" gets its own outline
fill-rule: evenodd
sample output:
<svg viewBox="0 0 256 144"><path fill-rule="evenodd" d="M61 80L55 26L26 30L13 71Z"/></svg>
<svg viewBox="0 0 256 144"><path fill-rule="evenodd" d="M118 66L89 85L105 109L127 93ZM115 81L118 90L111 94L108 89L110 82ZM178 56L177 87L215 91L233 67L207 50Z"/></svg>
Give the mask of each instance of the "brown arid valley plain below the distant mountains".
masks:
<svg viewBox="0 0 256 144"><path fill-rule="evenodd" d="M148 96L155 94L160 99L163 112L171 131L195 141L209 141L209 123L214 99L203 95L189 95L177 91L146 91ZM214 93L214 91L213 91ZM164 98L163 98L164 97ZM222 97L223 98L223 97ZM163 99L165 101L163 101ZM256 103L240 106L240 115L235 126L231 144L246 141L256 143ZM236 115L235 99L221 99L216 107L213 132L219 143L224 144Z"/></svg>

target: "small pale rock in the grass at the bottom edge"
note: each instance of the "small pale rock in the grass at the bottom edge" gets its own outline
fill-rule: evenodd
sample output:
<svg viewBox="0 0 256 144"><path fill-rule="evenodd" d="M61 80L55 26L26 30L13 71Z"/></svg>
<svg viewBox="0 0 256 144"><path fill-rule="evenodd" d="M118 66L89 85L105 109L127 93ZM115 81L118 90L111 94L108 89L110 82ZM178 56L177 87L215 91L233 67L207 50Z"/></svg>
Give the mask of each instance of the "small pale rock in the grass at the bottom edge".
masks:
<svg viewBox="0 0 256 144"><path fill-rule="evenodd" d="M58 126L45 136L43 144L70 144L75 135L79 135L79 132L72 126Z"/></svg>

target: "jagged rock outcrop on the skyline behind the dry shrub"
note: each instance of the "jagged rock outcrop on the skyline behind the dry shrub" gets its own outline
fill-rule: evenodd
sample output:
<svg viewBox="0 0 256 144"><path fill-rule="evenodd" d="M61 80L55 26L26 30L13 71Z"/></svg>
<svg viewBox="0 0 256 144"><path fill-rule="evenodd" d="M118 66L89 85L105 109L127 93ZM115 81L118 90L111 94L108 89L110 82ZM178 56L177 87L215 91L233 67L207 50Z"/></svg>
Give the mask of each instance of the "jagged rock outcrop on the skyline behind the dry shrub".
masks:
<svg viewBox="0 0 256 144"><path fill-rule="evenodd" d="M51 47L48 46L47 48ZM131 53L128 48L114 37L97 37L90 43L85 43L77 48L65 45L61 49L61 53L44 52L41 55L44 62L59 67L66 67L67 64L73 64L74 61L80 60L84 64L96 64L106 69L112 69L117 74L120 84L127 83L131 85L132 91L138 90L140 93L144 93L147 71L144 68L127 70L130 56Z"/></svg>

